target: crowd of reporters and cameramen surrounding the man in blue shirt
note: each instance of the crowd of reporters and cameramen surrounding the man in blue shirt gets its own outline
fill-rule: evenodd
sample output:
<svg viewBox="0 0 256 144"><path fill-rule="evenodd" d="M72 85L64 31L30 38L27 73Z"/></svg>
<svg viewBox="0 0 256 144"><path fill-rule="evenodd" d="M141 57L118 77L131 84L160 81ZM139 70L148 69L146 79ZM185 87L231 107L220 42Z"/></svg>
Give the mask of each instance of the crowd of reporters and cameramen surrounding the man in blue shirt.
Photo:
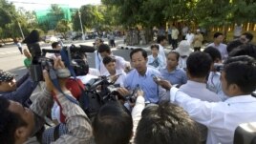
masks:
<svg viewBox="0 0 256 144"><path fill-rule="evenodd" d="M36 98L38 82L30 72L16 81L10 72L0 72L0 141L22 143L86 144L231 144L236 128L256 121L256 46L245 32L223 44L223 33L202 50L200 31L187 30L178 46L175 26L168 37L158 36L150 48L130 52L130 61L114 55L102 39L96 39L96 68L90 68L86 53L75 55L75 77L58 78L43 71L44 86ZM171 31L174 31L171 32ZM171 38L171 41L170 41ZM165 54L169 42L173 51ZM61 49L53 43L53 49ZM176 49L177 48L177 49ZM194 48L194 51L192 51ZM25 49L25 66L32 63ZM61 55L52 54L56 73L70 75ZM135 101L109 101L93 118L77 104L91 79L107 76L121 96L135 89ZM122 99L123 100L123 99ZM45 117L54 125L46 127Z"/></svg>

